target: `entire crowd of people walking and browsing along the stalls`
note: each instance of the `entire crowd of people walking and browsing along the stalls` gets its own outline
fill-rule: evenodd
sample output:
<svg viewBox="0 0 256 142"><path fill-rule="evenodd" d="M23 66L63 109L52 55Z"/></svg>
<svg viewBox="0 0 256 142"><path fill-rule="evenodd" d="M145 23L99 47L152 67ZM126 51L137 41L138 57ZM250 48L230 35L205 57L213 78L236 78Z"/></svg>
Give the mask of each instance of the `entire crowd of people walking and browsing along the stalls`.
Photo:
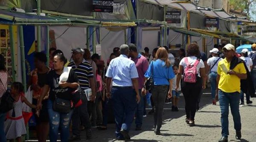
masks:
<svg viewBox="0 0 256 142"><path fill-rule="evenodd" d="M123 44L115 47L107 64L98 54L88 49L72 49L72 61L67 61L61 50L49 50L49 67L43 52L35 52L35 69L30 73L28 86L33 90L32 103L24 96L23 84L13 82L11 94L14 109L0 113L0 142L21 142L26 134L22 104L32 108L36 120L39 142L61 142L81 140L81 130L87 139L92 139L91 128L107 130L110 113L116 122L116 139L130 139L129 130L135 118L136 129L143 129L146 106L154 114L154 133L160 135L163 122L163 107L172 101L172 111L179 111L180 94L185 99L186 119L195 126L195 113L199 109L202 90L211 84L212 104L219 101L221 108L221 139L227 142L229 105L234 117L236 139L241 139L239 100L251 104L256 86L256 44L252 51L243 49L236 53L232 44L215 45L207 59L196 42L179 50L178 57L169 53L167 46L155 48L149 54L138 52L136 45ZM7 90L7 70L3 55L0 55L0 97ZM241 83L240 83L241 81ZM251 84L250 84L251 82ZM80 88L91 90L91 96L75 107L72 94ZM147 89L150 88L150 89ZM150 98L150 99L147 99ZM148 102L150 100L150 102ZM72 126L72 136L70 136Z"/></svg>

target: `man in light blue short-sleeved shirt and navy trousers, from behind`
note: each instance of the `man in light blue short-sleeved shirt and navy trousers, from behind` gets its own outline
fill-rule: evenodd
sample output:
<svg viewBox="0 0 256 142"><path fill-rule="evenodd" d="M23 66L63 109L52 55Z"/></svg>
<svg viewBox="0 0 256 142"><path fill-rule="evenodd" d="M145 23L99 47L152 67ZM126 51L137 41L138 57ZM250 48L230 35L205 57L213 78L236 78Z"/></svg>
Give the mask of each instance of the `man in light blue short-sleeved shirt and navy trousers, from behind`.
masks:
<svg viewBox="0 0 256 142"><path fill-rule="evenodd" d="M134 119L137 103L140 102L138 72L134 61L128 59L129 46L120 46L121 55L111 60L106 76L107 97L110 97L110 84L113 80L111 99L116 120L116 138L130 139L128 134ZM137 100L137 103L136 103Z"/></svg>

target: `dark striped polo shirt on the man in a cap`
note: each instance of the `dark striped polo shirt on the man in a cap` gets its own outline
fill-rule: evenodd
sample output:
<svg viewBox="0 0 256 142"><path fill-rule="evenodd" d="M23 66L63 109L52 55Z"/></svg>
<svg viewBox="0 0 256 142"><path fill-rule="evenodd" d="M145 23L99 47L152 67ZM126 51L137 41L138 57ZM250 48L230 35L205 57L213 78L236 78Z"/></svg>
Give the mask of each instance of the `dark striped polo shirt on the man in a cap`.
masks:
<svg viewBox="0 0 256 142"><path fill-rule="evenodd" d="M80 87L82 89L89 89L89 78L93 78L93 68L87 61L83 61L78 67L74 62L70 62L68 67L72 67L79 80Z"/></svg>

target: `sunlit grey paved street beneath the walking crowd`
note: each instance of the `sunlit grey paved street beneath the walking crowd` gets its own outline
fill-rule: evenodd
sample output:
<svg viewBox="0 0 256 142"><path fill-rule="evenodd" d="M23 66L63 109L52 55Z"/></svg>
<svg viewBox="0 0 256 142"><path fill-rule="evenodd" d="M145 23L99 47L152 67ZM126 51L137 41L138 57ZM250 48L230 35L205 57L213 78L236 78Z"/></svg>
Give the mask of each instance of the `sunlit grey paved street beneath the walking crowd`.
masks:
<svg viewBox="0 0 256 142"><path fill-rule="evenodd" d="M201 99L200 110L195 116L195 127L189 127L185 123L184 98L180 98L180 111L171 112L172 104L166 104L164 110L164 122L161 128L163 135L156 136L153 131L153 116L148 115L143 120L143 130L135 131L135 125L130 130L129 142L217 142L221 138L220 108L211 104L209 89L204 91ZM240 107L242 121L241 142L256 142L256 99L251 99L253 105ZM149 110L147 110L149 111ZM235 139L233 117L229 117L230 142L240 142ZM108 125L108 130L93 129L93 139L88 142L122 142L115 139L115 125ZM82 134L84 142L85 132Z"/></svg>

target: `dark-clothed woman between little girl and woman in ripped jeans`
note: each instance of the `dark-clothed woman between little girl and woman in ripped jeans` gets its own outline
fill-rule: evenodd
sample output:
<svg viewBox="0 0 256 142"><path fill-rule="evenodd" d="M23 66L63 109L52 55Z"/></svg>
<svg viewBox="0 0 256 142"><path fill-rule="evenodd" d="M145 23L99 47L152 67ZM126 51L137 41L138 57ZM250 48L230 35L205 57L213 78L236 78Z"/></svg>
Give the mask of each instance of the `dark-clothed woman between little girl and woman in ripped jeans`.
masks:
<svg viewBox="0 0 256 142"><path fill-rule="evenodd" d="M40 94L42 92L42 87L44 87L45 84L47 84L47 73L49 72L49 67L46 66L47 57L43 52L35 52L34 55L34 64L35 64L35 70L33 70L30 73L29 77L29 85L30 89L34 90L33 93L33 102L32 104L37 104L37 101L40 97ZM33 79L36 83L32 83ZM38 94L38 95L37 95ZM32 112L35 115L36 119L36 132L38 137L38 142L46 142L47 136L49 134L49 115L47 110L47 100L48 96L44 98L42 101L42 109L40 111L36 111L35 109L32 109Z"/></svg>

